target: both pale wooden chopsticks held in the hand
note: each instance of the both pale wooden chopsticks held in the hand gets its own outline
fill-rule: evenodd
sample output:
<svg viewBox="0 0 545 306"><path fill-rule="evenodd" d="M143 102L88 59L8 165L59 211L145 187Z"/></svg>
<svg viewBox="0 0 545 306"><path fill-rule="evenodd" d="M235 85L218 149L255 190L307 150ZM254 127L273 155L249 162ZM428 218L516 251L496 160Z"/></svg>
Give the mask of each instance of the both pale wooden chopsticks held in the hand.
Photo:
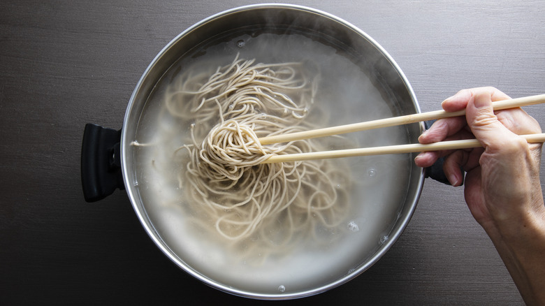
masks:
<svg viewBox="0 0 545 306"><path fill-rule="evenodd" d="M521 106L535 105L545 103L545 94L537 96L525 96L522 98L509 99L504 101L495 101L492 103L494 110L506 110L509 108L520 108ZM444 110L435 110L433 112L421 112L413 115L391 117L386 119L372 120L368 122L359 122L355 124L346 124L342 126L332 126L324 129L314 129L297 133L286 133L282 135L267 136L259 138L261 145L271 145L273 143L286 143L293 140L303 140L325 136L339 135L342 133L351 133L356 131L365 131L370 129L379 129L387 126L398 126L402 124L411 124L415 122L442 119L449 117L464 116L465 110L458 112L446 112ZM545 143L545 133L523 135L528 143ZM412 152L427 152L438 150L457 150L472 147L481 147L476 139L442 141L430 144L409 144L409 145L389 145L384 147L365 147L348 150L334 150L324 152L307 152L298 154L284 154L271 156L263 163L279 163L287 161L307 161L312 159L334 159L340 157L367 156L380 154L401 154Z"/></svg>

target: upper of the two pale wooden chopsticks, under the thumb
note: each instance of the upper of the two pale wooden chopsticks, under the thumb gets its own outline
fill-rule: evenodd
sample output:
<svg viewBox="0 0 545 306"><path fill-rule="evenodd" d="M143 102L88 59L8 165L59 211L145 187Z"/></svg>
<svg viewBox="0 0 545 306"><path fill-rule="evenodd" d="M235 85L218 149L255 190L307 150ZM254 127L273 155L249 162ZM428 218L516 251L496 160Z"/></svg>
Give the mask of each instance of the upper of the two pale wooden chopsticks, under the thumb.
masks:
<svg viewBox="0 0 545 306"><path fill-rule="evenodd" d="M494 110L505 110L507 108L519 108L526 105L534 105L545 103L545 94L537 96L525 96L522 98L509 99L504 101L493 102ZM387 126L397 126L402 124L411 124L433 119L441 119L448 117L457 117L465 115L465 110L458 112L446 112L444 110L435 110L433 112L420 112L418 114L405 115L399 117L391 117L385 119L372 120L368 122L359 122L355 124L346 124L342 126L332 126L324 129L314 129L310 131L287 133L282 135L266 136L259 138L261 145L271 145L273 143L286 143L293 140L310 139L317 137L325 137L338 135L343 133L351 133L356 131L365 131L369 129L378 129Z"/></svg>

